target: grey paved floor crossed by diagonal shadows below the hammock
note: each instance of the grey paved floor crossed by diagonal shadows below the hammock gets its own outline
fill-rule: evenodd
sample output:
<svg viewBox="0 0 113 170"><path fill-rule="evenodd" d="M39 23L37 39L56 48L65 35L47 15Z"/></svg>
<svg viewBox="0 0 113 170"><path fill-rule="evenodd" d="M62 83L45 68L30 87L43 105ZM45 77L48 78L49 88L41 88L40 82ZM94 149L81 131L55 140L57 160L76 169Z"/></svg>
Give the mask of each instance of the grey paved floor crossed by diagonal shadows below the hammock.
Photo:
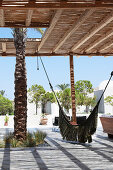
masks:
<svg viewBox="0 0 113 170"><path fill-rule="evenodd" d="M6 129L0 129L3 135ZM8 131L8 129L7 129ZM48 147L0 149L2 170L113 170L113 139L98 128L91 144L63 141L59 132L47 132Z"/></svg>

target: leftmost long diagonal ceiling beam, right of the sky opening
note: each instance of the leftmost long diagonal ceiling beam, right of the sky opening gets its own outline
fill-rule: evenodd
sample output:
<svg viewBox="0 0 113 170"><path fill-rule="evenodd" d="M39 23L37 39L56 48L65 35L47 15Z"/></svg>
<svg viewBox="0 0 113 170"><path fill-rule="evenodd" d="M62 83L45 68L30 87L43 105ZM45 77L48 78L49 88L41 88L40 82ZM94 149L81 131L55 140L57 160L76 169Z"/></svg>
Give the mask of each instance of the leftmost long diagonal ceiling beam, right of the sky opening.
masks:
<svg viewBox="0 0 113 170"><path fill-rule="evenodd" d="M42 48L43 44L45 43L45 41L47 40L47 38L49 37L49 35L51 34L53 28L55 27L57 21L59 20L60 16L62 14L62 10L57 10L57 12L55 13L52 21L51 21L51 24L50 24L50 27L46 30L43 38L42 38L42 41L38 47L38 51Z"/></svg>

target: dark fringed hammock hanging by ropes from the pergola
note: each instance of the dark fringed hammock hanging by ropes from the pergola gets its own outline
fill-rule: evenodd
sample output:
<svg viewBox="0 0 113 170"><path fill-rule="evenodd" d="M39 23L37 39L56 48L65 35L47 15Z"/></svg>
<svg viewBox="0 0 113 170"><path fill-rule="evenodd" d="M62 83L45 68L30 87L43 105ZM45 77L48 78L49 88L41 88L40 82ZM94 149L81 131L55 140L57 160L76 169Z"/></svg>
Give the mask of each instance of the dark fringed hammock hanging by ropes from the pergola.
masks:
<svg viewBox="0 0 113 170"><path fill-rule="evenodd" d="M55 91L53 90L53 87L50 83L48 74L46 72L46 69L45 69L45 66L43 64L41 57L40 57L40 60L41 60L42 66L44 68L45 74L47 76L50 88L53 91L55 98L57 100L57 103L59 105L59 128L60 128L60 133L61 133L63 139L66 139L68 141L78 141L80 143L85 143L87 141L88 141L88 143L91 143L92 135L96 132L96 128L97 128L98 107L99 107L100 101L104 95L104 92L113 76L113 71L111 72L111 76L108 80L108 83L107 83L99 101L97 102L96 106L90 113L89 117L82 124L72 125L70 123L68 117L64 113L64 111L59 103L59 100L55 94Z"/></svg>

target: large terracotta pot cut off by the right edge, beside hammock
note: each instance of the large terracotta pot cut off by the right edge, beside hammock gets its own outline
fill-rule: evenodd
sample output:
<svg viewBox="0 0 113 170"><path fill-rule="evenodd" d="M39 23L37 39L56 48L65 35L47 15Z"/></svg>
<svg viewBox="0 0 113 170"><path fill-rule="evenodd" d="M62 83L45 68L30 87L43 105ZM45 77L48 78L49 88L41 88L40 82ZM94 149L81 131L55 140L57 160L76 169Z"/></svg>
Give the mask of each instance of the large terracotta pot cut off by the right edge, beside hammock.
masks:
<svg viewBox="0 0 113 170"><path fill-rule="evenodd" d="M100 117L103 131L108 134L108 137L113 138L113 117L102 116Z"/></svg>

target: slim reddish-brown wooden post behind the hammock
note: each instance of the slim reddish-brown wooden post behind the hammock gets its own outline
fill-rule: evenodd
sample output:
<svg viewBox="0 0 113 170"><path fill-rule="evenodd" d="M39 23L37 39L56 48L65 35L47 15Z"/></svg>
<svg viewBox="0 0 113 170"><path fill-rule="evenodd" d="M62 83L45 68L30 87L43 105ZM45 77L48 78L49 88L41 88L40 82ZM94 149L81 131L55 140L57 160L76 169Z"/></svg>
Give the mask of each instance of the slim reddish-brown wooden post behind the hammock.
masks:
<svg viewBox="0 0 113 170"><path fill-rule="evenodd" d="M76 106L75 106L73 55L70 55L70 81L71 81L71 100L72 100L72 124L77 124L77 121L76 121Z"/></svg>

